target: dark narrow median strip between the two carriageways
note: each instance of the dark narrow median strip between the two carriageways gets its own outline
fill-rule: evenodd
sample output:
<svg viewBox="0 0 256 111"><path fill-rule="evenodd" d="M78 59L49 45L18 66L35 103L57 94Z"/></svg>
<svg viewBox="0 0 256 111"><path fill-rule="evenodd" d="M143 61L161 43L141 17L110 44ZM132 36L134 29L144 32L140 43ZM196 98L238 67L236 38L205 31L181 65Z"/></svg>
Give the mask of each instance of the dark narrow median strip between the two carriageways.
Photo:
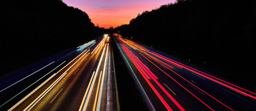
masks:
<svg viewBox="0 0 256 111"><path fill-rule="evenodd" d="M145 111L141 93L136 87L113 37L111 38L115 62L116 80L121 111Z"/></svg>

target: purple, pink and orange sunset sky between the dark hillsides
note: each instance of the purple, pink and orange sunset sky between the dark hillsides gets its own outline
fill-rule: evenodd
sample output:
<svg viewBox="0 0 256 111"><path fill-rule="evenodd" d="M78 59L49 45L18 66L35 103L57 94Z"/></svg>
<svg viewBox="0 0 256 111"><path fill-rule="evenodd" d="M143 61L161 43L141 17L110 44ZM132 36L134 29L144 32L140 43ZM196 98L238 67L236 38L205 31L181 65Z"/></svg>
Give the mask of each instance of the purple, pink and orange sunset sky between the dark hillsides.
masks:
<svg viewBox="0 0 256 111"><path fill-rule="evenodd" d="M130 20L145 10L151 11L175 0L62 0L68 6L77 7L89 15L99 27L114 28L129 24Z"/></svg>

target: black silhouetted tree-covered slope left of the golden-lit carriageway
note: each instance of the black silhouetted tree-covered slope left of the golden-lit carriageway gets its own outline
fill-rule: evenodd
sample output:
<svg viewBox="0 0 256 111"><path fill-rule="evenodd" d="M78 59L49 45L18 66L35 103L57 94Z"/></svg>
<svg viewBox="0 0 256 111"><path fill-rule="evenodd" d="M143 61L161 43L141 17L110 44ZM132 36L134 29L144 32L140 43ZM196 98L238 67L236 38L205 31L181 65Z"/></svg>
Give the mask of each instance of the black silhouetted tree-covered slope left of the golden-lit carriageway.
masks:
<svg viewBox="0 0 256 111"><path fill-rule="evenodd" d="M4 73L96 37L88 15L61 0L1 0L0 10Z"/></svg>

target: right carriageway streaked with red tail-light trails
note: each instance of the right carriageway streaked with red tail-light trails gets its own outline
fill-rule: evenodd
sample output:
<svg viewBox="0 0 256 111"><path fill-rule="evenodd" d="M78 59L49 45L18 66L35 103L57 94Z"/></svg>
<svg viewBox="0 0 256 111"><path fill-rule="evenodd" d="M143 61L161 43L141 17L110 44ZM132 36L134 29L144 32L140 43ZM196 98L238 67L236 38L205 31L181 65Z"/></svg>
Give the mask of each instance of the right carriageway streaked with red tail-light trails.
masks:
<svg viewBox="0 0 256 111"><path fill-rule="evenodd" d="M256 111L254 91L120 35L113 37L148 110Z"/></svg>

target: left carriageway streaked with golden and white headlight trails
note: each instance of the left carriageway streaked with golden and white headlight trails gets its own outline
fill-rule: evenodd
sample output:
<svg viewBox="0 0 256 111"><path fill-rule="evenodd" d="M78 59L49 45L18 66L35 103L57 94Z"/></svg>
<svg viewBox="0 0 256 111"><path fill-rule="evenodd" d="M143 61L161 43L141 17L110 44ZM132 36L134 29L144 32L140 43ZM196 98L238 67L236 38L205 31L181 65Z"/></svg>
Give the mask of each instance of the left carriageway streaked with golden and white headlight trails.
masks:
<svg viewBox="0 0 256 111"><path fill-rule="evenodd" d="M100 36L1 81L1 111L115 109L115 101L110 101L115 94L110 85L114 71L109 38Z"/></svg>

